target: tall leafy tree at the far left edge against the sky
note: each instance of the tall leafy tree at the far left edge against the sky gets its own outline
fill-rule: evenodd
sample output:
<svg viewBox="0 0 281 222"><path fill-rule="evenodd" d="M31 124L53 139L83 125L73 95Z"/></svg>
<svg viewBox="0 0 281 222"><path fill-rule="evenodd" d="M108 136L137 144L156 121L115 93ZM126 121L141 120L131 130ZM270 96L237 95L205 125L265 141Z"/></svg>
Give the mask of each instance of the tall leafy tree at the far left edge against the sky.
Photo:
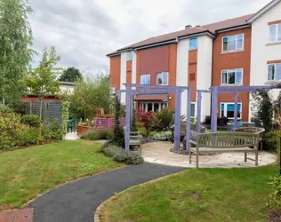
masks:
<svg viewBox="0 0 281 222"><path fill-rule="evenodd" d="M2 103L20 99L18 81L32 59L32 30L28 14L34 11L26 0L0 1L0 96Z"/></svg>

